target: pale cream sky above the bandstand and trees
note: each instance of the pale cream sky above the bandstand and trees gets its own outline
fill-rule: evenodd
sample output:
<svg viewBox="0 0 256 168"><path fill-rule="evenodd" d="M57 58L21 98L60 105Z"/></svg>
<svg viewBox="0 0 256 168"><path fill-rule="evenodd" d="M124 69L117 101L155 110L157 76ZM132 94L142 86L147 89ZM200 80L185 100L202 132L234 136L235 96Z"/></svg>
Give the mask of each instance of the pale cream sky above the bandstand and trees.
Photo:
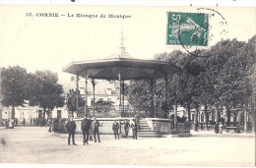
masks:
<svg viewBox="0 0 256 168"><path fill-rule="evenodd" d="M0 67L19 65L28 72L50 70L57 73L60 84L64 84L70 82L71 75L62 72L62 68L72 61L102 59L117 52L121 30L126 51L134 58L153 59L155 54L173 49L186 52L179 45L166 45L166 12L169 11L215 13L216 16L209 20L212 26L209 34L214 35L209 39L209 46L222 38L247 41L256 33L255 8L208 8L211 10L198 10L198 7L2 5ZM28 17L29 13L33 17ZM65 17L36 17L37 13L58 13ZM75 16L67 17L68 14ZM106 18L77 18L77 14L97 17L103 14ZM131 18L107 18L108 14ZM226 25L222 21L226 21Z"/></svg>

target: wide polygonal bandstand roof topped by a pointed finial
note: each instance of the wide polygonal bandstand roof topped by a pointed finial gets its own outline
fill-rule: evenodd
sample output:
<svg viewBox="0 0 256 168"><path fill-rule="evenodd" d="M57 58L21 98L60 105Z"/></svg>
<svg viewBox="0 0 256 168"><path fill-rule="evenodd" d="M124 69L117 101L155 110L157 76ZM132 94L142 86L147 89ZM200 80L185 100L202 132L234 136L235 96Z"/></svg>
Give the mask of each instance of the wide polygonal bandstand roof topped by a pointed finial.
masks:
<svg viewBox="0 0 256 168"><path fill-rule="evenodd" d="M119 80L120 74L121 80L147 80L167 72L179 71L176 66L170 66L167 62L131 57L125 52L122 41L119 48L119 52L104 59L71 62L63 68L63 72L80 76L88 75L91 79Z"/></svg>

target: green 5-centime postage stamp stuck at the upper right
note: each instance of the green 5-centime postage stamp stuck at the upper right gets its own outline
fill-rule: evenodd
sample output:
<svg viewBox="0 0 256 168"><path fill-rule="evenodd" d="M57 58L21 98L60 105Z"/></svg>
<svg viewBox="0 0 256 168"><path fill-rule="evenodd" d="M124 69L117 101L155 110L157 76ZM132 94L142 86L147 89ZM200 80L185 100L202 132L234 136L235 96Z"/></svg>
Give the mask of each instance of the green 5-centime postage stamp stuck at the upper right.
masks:
<svg viewBox="0 0 256 168"><path fill-rule="evenodd" d="M167 12L167 20L167 44L208 45L208 14Z"/></svg>

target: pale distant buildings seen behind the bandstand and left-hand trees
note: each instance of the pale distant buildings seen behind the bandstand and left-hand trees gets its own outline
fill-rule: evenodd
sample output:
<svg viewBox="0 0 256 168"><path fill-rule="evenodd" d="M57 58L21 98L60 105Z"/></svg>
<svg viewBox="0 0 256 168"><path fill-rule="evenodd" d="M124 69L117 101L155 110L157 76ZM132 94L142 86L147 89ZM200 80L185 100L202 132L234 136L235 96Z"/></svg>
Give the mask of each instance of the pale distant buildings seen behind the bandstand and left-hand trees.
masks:
<svg viewBox="0 0 256 168"><path fill-rule="evenodd" d="M67 92L70 88L74 88L75 84L70 83L72 85L68 85L66 88L64 87L64 96L67 99ZM86 97L85 93L85 82L82 81L79 83L79 89L81 96L83 98ZM120 102L120 93L119 93L119 83L116 82L108 82L108 81L96 81L96 89L95 89L95 98L96 101L103 100L112 102L112 108L109 113L102 114L100 112L96 112L96 116L99 117L120 117L121 113L119 111L119 102ZM121 96L122 98L122 96ZM66 102L66 100L65 100ZM121 99L121 103L124 104L124 111L121 109L122 113L126 113L126 116L129 116L129 113L133 112L132 106L128 102L127 96L124 96L124 103ZM90 113L93 114L93 105L94 105L94 95L93 95L93 84L89 81L88 82L88 108ZM76 112L73 114L75 118L80 118L84 115L85 108L80 109L82 111L81 115L78 115ZM2 118L8 119L11 118L12 115L12 107L3 107L2 108ZM43 109L39 108L38 106L25 106L25 107L15 107L15 118L18 121L30 121L33 118L41 119L43 116ZM69 111L64 107L54 108L49 116L45 114L45 118L68 118Z"/></svg>

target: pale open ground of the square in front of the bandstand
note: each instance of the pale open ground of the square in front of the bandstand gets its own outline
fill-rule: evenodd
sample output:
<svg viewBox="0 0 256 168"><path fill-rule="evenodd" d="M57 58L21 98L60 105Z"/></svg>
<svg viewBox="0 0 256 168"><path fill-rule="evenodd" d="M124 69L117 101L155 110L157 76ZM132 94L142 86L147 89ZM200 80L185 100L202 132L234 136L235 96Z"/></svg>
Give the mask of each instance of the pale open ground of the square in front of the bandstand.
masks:
<svg viewBox="0 0 256 168"><path fill-rule="evenodd" d="M57 163L90 165L253 166L252 134L193 133L190 138L140 138L67 145L67 135L48 133L45 127L0 128L1 163Z"/></svg>

